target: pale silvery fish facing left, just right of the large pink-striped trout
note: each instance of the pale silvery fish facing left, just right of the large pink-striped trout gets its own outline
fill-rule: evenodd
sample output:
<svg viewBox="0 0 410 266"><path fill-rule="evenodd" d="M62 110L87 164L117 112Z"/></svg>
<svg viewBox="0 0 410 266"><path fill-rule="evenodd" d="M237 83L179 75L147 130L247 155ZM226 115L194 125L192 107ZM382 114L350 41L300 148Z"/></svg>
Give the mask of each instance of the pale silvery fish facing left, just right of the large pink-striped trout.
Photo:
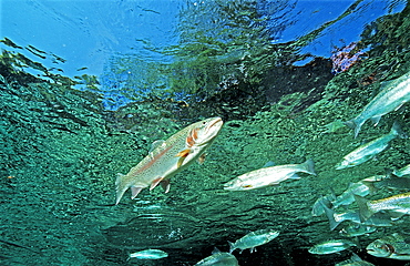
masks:
<svg viewBox="0 0 410 266"><path fill-rule="evenodd" d="M296 174L304 172L316 175L314 161L307 160L301 164L285 164L270 167L258 168L224 184L226 191L249 191L265 186L277 185L288 178L299 180Z"/></svg>

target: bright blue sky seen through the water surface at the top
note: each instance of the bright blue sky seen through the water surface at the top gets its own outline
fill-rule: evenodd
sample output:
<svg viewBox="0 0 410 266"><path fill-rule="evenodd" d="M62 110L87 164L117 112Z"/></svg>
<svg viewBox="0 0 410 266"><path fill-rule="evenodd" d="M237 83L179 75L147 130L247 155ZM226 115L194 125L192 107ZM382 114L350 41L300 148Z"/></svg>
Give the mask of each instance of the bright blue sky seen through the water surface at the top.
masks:
<svg viewBox="0 0 410 266"><path fill-rule="evenodd" d="M358 40L363 25L388 12L393 0L363 0L346 19L326 29L304 52L330 57L335 45ZM191 1L189 4L201 4ZM285 29L275 42L288 42L340 16L355 0L289 0L296 2L287 16L295 23ZM399 1L400 2L400 1ZM144 49L176 44L177 14L182 0L1 0L0 39L34 48L66 60L55 62L28 58L48 68L61 68L70 78L79 74L102 75L111 57L135 54L147 60L164 60ZM401 11L403 4L392 12ZM0 45L3 47L3 45ZM9 48L7 48L9 49ZM20 51L21 52L21 51ZM86 66L86 70L78 71Z"/></svg>

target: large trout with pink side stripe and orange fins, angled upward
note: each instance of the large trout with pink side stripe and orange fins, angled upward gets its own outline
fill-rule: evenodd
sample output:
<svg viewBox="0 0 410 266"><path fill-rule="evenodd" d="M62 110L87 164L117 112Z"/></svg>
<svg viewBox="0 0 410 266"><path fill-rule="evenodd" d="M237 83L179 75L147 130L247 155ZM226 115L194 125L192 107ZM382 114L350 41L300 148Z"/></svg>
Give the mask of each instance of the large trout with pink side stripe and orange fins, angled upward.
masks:
<svg viewBox="0 0 410 266"><path fill-rule="evenodd" d="M166 141L153 143L153 150L126 175L119 174L116 186L116 201L119 204L125 191L131 187L132 196L145 187L150 191L161 184L165 193L170 191L170 178L185 170L194 161L205 156L205 151L215 141L222 129L219 117L196 122L172 135Z"/></svg>

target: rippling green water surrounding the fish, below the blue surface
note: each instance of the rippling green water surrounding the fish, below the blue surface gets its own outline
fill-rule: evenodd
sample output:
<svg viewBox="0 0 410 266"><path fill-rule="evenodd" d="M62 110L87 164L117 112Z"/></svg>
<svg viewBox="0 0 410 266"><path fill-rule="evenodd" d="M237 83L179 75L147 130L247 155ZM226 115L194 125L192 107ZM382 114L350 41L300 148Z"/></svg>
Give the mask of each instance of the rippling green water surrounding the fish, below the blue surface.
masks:
<svg viewBox="0 0 410 266"><path fill-rule="evenodd" d="M407 11L391 16L397 28L386 28L385 33L408 28ZM263 106L250 105L249 99L238 94L242 101L228 105L214 96L203 105L186 108L176 101L146 100L105 111L100 93L28 80L23 72L6 68L9 61L3 55L2 265L194 265L214 247L226 252L227 241L265 228L280 235L254 254L234 253L239 265L332 265L350 257L349 252L326 256L307 252L317 243L340 237L339 229L329 231L325 216L311 216L311 206L330 187L340 194L350 182L409 164L409 141L397 139L376 160L335 170L341 157L363 141L388 133L393 121L409 133L409 108L383 116L376 127L366 123L358 139L348 127L328 124L353 117L378 92L378 81L365 85L369 76L389 80L410 70L409 43L401 41L378 42L370 57L348 72L318 86L307 83L304 90ZM329 72L317 76L328 78ZM288 78L296 82L304 76ZM269 78L252 82L268 84ZM269 89L265 86L264 92L268 94ZM214 115L221 115L225 125L203 165L195 164L175 176L167 194L161 188L144 190L131 201L127 192L122 203L114 205L116 173L136 165L153 141ZM269 161L280 165L306 158L314 160L317 176L301 174L298 181L248 192L223 190L224 183ZM372 198L388 195L391 192L381 190ZM361 248L408 228L410 221L404 216L392 227L360 236ZM130 253L146 248L170 255L161 260L127 260ZM361 248L352 250L376 265L386 262Z"/></svg>

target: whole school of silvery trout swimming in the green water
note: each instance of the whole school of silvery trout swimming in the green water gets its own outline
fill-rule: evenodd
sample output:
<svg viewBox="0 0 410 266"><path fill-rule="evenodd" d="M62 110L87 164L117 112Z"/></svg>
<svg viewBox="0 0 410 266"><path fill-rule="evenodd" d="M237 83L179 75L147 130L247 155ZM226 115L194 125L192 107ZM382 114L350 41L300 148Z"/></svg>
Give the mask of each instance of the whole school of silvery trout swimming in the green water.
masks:
<svg viewBox="0 0 410 266"><path fill-rule="evenodd" d="M355 137L358 136L367 120L378 124L380 117L401 108L410 101L410 72L381 84L381 91L363 108L355 119L345 122L345 125L355 130ZM339 123L339 126L344 124ZM131 187L131 198L150 187L153 190L161 184L165 193L170 191L170 178L186 168L194 161L203 162L205 151L212 145L223 126L221 117L207 119L186 126L166 141L153 143L148 155L136 166L132 167L126 175L119 174L115 182L116 201L119 204L123 194ZM385 151L396 137L407 139L399 123L394 122L388 134L381 135L373 141L362 144L355 151L347 154L336 165L336 170L356 167ZM271 165L244 173L224 184L224 190L232 192L247 192L263 187L278 185L287 180L299 180L297 173L316 175L314 161L307 160L300 164ZM410 164L400 170L363 178L356 183L348 184L348 187L339 196L331 191L330 194L319 197L314 203L311 215L325 215L329 221L330 231L341 224L346 224L339 233L345 238L327 239L308 248L308 252L316 255L339 253L345 249L360 246L358 236L369 235L379 227L391 227L403 216L410 214ZM383 188L396 191L389 196L377 194ZM377 200L367 200L368 195ZM357 207L351 205L356 203ZM279 235L275 229L257 229L229 244L229 253L217 249L196 265L238 265L233 255L236 249L240 253L244 249L256 250L257 246L265 245ZM355 237L355 238L352 238ZM410 237L399 233L381 237L366 247L368 254L376 257L410 260ZM158 259L167 254L160 249L146 249L130 255L130 258ZM337 265L372 265L362 260L353 254L350 259Z"/></svg>

